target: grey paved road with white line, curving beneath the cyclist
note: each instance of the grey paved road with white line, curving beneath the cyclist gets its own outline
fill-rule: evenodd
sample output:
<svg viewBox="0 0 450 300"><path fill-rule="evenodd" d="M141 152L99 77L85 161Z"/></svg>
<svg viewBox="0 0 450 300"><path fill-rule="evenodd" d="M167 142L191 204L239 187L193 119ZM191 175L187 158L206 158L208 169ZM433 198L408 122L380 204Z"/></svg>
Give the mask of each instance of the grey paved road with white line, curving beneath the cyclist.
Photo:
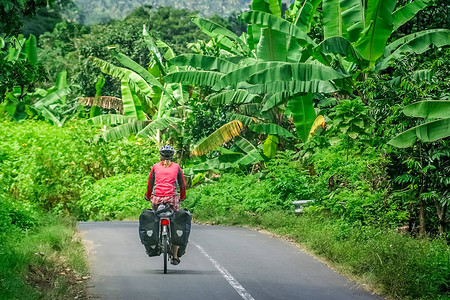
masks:
<svg viewBox="0 0 450 300"><path fill-rule="evenodd" d="M193 225L186 255L163 274L137 222L81 222L90 293L101 299L369 300L363 290L295 246L254 230Z"/></svg>

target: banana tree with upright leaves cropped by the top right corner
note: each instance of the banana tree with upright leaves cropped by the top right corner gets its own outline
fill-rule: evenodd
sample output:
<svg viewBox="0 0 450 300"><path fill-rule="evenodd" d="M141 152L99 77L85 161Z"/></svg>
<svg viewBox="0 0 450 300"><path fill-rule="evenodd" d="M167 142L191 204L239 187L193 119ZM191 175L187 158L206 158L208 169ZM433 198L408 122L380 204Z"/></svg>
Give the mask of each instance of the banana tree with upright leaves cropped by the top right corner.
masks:
<svg viewBox="0 0 450 300"><path fill-rule="evenodd" d="M316 47L315 57L339 55L346 71L357 66L379 72L401 54L422 53L431 45L449 45L450 30L420 31L388 44L390 36L427 7L430 0L415 0L398 7L397 0L323 0L324 40ZM331 58L332 58L331 57ZM323 61L323 60L322 60Z"/></svg>

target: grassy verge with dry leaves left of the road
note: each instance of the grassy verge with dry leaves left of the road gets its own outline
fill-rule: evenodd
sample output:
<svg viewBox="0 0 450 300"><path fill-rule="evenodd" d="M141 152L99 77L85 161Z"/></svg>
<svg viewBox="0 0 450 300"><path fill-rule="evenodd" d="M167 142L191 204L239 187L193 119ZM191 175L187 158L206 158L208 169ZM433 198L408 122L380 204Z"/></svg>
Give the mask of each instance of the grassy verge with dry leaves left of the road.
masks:
<svg viewBox="0 0 450 300"><path fill-rule="evenodd" d="M0 243L0 299L73 299L88 266L75 222L39 215L39 225L11 225ZM74 288L75 287L75 288Z"/></svg>

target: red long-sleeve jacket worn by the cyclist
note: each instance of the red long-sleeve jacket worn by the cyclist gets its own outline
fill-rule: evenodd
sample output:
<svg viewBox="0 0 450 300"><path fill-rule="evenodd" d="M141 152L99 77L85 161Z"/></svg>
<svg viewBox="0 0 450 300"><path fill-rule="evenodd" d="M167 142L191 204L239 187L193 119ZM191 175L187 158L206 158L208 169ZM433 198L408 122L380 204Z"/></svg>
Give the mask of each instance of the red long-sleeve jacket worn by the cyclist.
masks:
<svg viewBox="0 0 450 300"><path fill-rule="evenodd" d="M150 199L155 196L173 196L177 193L176 186L180 188L180 200L186 199L186 182L183 171L177 163L172 163L165 168L163 162L154 164L148 177L147 193L145 197Z"/></svg>

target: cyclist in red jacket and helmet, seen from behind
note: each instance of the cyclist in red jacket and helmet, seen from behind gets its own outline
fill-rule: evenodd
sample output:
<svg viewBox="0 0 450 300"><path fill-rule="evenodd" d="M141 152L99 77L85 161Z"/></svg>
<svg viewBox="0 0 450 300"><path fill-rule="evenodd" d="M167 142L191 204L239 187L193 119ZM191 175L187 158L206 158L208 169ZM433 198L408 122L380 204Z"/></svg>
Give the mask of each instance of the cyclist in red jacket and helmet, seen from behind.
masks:
<svg viewBox="0 0 450 300"><path fill-rule="evenodd" d="M180 201L186 199L186 183L184 181L183 171L177 163L172 161L175 150L172 146L165 145L159 149L161 161L153 165L148 178L147 192L145 199L151 201L154 211L161 203L168 203L174 211L180 209ZM177 193L177 187L180 194ZM178 257L179 246L172 248L173 265L178 265L180 259Z"/></svg>

